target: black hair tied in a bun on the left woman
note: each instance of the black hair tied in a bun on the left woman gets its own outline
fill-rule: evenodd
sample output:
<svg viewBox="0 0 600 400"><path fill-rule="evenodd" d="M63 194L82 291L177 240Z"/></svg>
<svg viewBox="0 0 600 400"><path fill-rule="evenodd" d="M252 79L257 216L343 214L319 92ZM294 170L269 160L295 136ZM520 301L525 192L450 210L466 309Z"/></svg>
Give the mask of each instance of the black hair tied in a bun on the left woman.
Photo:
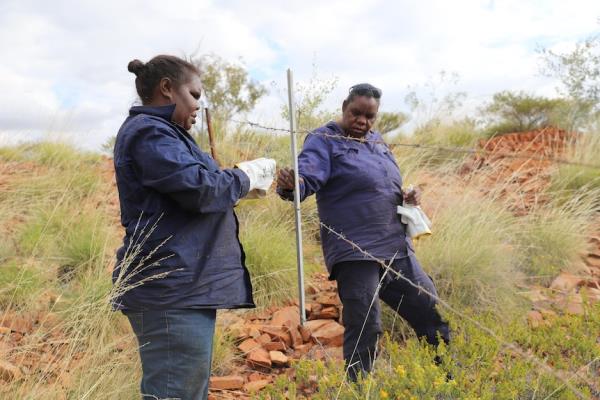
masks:
<svg viewBox="0 0 600 400"><path fill-rule="evenodd" d="M200 70L194 64L179 57L158 55L147 63L132 60L127 70L135 74L135 88L142 104L152 101L154 89L162 78L169 78L175 87L185 83L190 74L200 75Z"/></svg>

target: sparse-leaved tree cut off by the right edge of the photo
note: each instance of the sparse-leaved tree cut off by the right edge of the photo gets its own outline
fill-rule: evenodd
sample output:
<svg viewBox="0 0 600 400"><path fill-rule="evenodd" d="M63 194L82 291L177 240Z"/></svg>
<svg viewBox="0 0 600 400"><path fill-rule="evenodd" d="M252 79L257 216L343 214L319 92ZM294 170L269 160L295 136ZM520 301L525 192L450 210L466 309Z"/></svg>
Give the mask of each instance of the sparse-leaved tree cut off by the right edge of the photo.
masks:
<svg viewBox="0 0 600 400"><path fill-rule="evenodd" d="M600 116L600 34L590 36L575 45L571 52L556 53L539 50L542 74L557 78L561 94L569 100L563 118L572 130L597 121Z"/></svg>

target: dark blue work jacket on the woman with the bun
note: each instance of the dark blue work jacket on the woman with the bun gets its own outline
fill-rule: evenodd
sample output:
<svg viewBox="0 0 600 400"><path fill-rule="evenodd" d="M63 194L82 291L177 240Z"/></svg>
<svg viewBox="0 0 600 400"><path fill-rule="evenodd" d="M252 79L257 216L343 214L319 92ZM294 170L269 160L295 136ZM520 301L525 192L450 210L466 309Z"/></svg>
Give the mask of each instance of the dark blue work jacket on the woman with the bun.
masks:
<svg viewBox="0 0 600 400"><path fill-rule="evenodd" d="M233 206L250 181L220 170L171 123L175 105L132 107L115 143L125 227L115 308L254 307Z"/></svg>

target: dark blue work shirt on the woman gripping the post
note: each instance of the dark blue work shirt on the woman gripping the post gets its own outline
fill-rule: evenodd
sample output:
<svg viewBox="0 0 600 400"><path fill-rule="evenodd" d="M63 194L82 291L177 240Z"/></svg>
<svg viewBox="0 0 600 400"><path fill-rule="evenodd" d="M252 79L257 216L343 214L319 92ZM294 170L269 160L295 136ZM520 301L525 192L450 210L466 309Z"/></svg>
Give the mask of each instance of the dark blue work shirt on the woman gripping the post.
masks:
<svg viewBox="0 0 600 400"><path fill-rule="evenodd" d="M396 213L403 202L402 177L381 135L369 132L367 142L349 140L335 122L313 132L298 155L304 179L300 199L316 193L321 222L377 258L412 254L406 225ZM279 193L293 199L293 192ZM324 227L321 244L329 273L341 261L369 259Z"/></svg>

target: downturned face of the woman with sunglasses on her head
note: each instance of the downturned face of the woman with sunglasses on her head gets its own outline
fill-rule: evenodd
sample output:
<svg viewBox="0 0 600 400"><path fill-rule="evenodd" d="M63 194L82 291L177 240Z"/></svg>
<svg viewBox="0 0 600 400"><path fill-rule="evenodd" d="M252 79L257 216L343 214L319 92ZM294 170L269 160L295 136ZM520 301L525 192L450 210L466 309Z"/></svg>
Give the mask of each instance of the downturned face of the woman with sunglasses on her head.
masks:
<svg viewBox="0 0 600 400"><path fill-rule="evenodd" d="M373 97L356 96L342 107L342 129L352 137L364 137L373 127L379 103Z"/></svg>

